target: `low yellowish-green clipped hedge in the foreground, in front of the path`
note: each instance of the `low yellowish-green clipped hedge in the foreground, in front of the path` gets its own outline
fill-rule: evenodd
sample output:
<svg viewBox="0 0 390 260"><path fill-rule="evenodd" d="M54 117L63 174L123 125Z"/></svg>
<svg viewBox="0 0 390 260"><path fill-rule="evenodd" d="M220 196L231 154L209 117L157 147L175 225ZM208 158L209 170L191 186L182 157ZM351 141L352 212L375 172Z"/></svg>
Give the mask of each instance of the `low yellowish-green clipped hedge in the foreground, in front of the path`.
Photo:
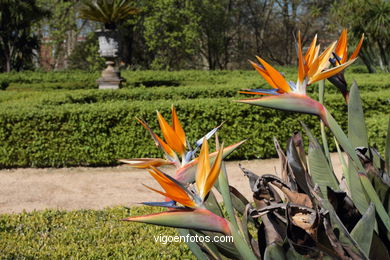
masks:
<svg viewBox="0 0 390 260"><path fill-rule="evenodd" d="M161 209L160 209L161 210ZM162 244L154 236L173 228L122 222L158 212L132 207L0 215L2 259L196 259L184 243Z"/></svg>

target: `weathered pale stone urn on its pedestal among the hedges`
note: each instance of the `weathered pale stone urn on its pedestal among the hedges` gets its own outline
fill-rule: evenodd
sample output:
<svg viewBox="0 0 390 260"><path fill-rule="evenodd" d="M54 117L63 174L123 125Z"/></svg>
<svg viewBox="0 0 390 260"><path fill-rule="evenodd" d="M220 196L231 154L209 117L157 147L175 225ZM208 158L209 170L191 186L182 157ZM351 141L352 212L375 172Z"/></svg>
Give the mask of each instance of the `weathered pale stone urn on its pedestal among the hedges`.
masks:
<svg viewBox="0 0 390 260"><path fill-rule="evenodd" d="M125 82L116 69L115 61L120 50L119 35L115 30L98 30L99 54L106 59L107 68L97 80L99 89L118 89Z"/></svg>

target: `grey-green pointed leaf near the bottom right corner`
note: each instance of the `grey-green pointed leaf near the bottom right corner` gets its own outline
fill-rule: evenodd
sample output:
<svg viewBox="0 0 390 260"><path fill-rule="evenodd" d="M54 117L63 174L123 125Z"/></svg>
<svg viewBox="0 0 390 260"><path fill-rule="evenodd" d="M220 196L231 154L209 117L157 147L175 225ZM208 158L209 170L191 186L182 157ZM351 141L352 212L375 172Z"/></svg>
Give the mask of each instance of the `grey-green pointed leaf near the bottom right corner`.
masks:
<svg viewBox="0 0 390 260"><path fill-rule="evenodd" d="M351 237L359 244L363 252L368 256L375 227L375 207L370 204L366 213L362 216L351 232Z"/></svg>

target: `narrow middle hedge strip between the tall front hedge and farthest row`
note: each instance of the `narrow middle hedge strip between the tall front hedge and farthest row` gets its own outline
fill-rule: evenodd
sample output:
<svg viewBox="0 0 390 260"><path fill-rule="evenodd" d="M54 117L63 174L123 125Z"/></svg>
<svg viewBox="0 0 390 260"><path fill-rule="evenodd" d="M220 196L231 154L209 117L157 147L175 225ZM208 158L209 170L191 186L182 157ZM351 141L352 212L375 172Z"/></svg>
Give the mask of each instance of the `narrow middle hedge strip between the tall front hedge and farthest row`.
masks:
<svg viewBox="0 0 390 260"><path fill-rule="evenodd" d="M382 82L383 83L383 82ZM34 83L35 84L35 83ZM58 83L45 83L42 86L51 86L57 88ZM65 84L65 83L64 83ZM74 83L68 83L68 87L72 87ZM200 83L199 83L200 84ZM203 83L202 83L203 84ZM251 85L252 84L252 85ZM376 85L375 85L376 84ZM27 87L30 85L26 85ZM53 91L3 91L0 92L0 103L15 103L22 102L29 105L64 105L64 104L90 104L108 101L133 101L133 100L179 100L179 99L197 99L197 98L242 98L239 90L244 88L269 88L265 84L255 84L250 81L243 81L240 84L216 84L210 86L205 85L187 85L180 87L137 87L120 90L56 90ZM379 82L366 83L360 86L361 93L382 91L389 89L390 86L379 84ZM36 85L39 89L39 85ZM23 89L27 90L27 89ZM310 86L308 92L316 98L317 86ZM327 84L327 93L338 94L335 87ZM16 103L14 105L17 105Z"/></svg>

